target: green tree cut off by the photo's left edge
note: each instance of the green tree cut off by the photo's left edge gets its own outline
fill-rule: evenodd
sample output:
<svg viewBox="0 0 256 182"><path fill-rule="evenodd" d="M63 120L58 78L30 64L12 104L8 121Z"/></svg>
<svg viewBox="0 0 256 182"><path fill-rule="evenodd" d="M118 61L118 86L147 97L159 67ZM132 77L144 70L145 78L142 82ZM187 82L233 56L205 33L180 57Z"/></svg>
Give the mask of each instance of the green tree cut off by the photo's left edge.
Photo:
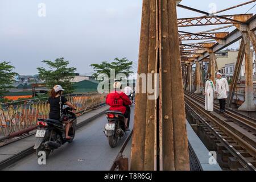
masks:
<svg viewBox="0 0 256 182"><path fill-rule="evenodd" d="M10 65L10 62L3 61L0 63L0 94L13 88L14 76L17 74L13 72L13 69L14 67Z"/></svg>

